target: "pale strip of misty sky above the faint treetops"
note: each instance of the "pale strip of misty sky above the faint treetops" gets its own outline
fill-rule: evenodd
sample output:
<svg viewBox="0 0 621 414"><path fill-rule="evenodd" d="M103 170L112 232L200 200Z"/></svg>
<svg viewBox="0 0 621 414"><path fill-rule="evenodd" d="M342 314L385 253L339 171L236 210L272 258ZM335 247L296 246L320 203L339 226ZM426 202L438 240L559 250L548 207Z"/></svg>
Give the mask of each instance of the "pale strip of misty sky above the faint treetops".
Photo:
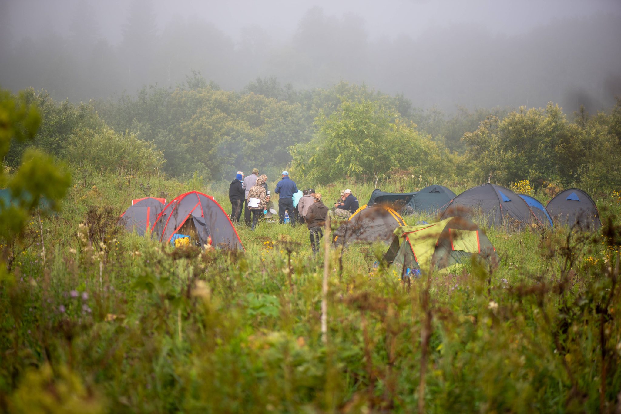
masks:
<svg viewBox="0 0 621 414"><path fill-rule="evenodd" d="M73 10L84 0L1 0L8 5L14 40L53 29L66 34ZM97 12L102 35L111 43L121 39L130 2L90 2ZM212 22L238 39L243 27L258 25L275 35L293 34L304 13L313 6L326 14L360 16L371 37L417 36L451 24L469 24L493 34L523 34L551 20L621 14L620 0L153 0L160 29L173 16ZM20 22L30 22L24 25Z"/></svg>

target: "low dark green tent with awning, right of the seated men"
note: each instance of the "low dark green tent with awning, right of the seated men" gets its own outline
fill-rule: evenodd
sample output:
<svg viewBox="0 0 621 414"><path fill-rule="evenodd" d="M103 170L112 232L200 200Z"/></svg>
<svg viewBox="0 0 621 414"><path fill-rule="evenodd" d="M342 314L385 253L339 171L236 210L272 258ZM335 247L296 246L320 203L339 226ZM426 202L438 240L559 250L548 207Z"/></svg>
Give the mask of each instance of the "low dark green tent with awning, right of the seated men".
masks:
<svg viewBox="0 0 621 414"><path fill-rule="evenodd" d="M387 204L399 211L409 210L410 207L415 212L425 212L433 214L442 210L446 204L455 198L455 193L445 186L427 186L416 192L384 192L375 189L371 193L371 198L367 205Z"/></svg>

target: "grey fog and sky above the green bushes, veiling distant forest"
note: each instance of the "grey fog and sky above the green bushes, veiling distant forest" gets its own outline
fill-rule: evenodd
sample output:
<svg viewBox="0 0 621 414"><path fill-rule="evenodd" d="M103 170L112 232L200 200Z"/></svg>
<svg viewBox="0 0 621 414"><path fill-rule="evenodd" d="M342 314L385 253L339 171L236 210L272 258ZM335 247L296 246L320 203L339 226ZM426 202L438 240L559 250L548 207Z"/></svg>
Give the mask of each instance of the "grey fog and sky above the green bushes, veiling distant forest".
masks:
<svg viewBox="0 0 621 414"><path fill-rule="evenodd" d="M345 80L417 107L605 109L621 1L20 0L0 3L0 86L88 101L198 71L224 89Z"/></svg>

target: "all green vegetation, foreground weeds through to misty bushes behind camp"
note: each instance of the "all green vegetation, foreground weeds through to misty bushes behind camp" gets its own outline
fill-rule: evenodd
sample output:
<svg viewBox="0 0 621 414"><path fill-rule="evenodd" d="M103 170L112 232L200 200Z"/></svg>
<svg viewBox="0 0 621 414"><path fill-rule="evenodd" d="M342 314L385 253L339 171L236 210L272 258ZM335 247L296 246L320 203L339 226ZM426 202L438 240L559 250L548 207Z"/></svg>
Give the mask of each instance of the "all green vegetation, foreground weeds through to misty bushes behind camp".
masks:
<svg viewBox="0 0 621 414"><path fill-rule="evenodd" d="M553 104L489 111L471 128L480 112L442 126L345 83L289 96L201 79L79 106L3 92L0 177L24 201L0 215L2 411L620 409L621 102L573 121ZM542 202L582 186L602 229L484 227L497 268L403 281L381 243L313 259L299 225L238 225L245 252L117 225L132 199L185 191L230 211L233 170L257 166L273 189L288 163L327 205L345 187L364 204L376 181L459 194L491 179Z"/></svg>

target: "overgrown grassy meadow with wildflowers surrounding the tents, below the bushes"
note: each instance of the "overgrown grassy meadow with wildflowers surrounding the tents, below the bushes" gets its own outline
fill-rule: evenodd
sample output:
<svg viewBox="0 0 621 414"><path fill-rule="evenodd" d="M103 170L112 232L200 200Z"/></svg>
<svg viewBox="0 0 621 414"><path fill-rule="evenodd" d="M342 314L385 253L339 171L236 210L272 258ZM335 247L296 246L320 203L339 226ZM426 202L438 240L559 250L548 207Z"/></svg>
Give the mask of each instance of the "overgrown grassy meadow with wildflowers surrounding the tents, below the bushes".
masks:
<svg viewBox="0 0 621 414"><path fill-rule="evenodd" d="M331 205L345 187L361 205L373 191L316 190ZM0 410L621 410L618 198L597 199L601 233L484 228L495 271L473 262L404 284L372 266L385 245L350 246L341 272L340 250L312 259L301 225L240 225L245 253L114 226L133 198L191 190L230 212L226 182L102 176L76 178L60 214L32 220L0 282ZM433 218L406 217L419 220Z"/></svg>

